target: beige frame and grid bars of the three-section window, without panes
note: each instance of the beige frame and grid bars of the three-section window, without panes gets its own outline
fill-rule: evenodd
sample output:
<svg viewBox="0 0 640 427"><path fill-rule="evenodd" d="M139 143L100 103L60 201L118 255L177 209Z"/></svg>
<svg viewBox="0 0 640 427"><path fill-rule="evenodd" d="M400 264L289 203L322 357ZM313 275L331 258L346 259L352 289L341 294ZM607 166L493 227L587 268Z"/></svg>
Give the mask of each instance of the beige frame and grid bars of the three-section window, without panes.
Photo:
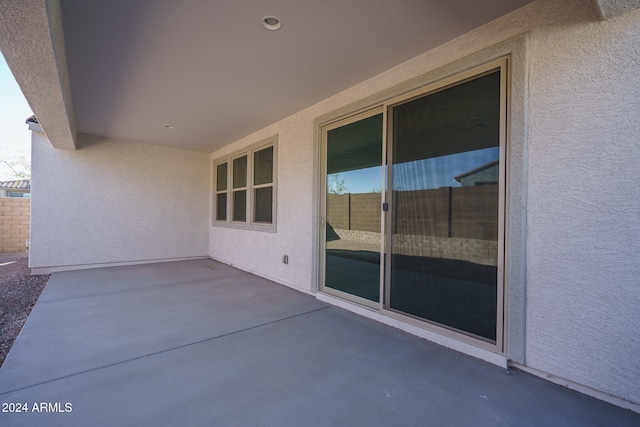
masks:
<svg viewBox="0 0 640 427"><path fill-rule="evenodd" d="M270 183L254 185L254 156L255 153L262 151L266 148L273 147L273 170L272 180ZM233 188L233 161L247 156L247 183L245 187ZM225 190L217 190L218 180L218 166L227 164L227 187ZM211 209L211 225L215 227L229 227L240 228L255 231L264 231L275 233L276 226L276 212L277 212L277 176L278 176L278 136L274 135L270 138L264 139L256 144L253 144L241 151L233 152L225 157L217 158L212 163L212 209ZM255 220L255 190L260 188L272 188L271 197L271 223L256 221ZM234 192L246 191L246 216L245 221L233 220L233 206L234 206ZM219 194L227 194L227 206L226 206L226 219L217 219L217 203Z"/></svg>

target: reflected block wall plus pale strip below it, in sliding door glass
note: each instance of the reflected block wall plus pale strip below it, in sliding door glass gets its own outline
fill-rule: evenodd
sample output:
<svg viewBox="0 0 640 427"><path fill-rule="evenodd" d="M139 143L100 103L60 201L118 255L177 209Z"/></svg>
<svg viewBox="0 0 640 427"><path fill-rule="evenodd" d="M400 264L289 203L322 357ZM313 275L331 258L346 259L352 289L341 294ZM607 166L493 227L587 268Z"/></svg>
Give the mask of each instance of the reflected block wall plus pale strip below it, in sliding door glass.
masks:
<svg viewBox="0 0 640 427"><path fill-rule="evenodd" d="M498 186L399 191L393 253L497 265ZM327 237L380 243L380 193L328 194Z"/></svg>

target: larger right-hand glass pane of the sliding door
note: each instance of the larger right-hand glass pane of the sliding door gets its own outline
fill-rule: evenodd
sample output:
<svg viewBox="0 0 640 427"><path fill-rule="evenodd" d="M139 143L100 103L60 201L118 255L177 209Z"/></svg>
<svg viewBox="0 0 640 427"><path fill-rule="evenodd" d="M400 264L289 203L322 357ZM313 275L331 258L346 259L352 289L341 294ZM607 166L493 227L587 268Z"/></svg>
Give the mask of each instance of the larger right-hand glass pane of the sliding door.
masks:
<svg viewBox="0 0 640 427"><path fill-rule="evenodd" d="M392 107L385 307L496 341L500 71Z"/></svg>

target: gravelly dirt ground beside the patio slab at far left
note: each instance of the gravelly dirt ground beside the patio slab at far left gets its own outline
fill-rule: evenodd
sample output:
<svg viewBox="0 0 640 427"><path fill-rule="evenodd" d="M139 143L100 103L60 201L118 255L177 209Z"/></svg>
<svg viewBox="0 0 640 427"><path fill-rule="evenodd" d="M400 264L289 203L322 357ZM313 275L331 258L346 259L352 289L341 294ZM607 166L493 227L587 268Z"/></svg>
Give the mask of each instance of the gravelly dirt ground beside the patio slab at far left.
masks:
<svg viewBox="0 0 640 427"><path fill-rule="evenodd" d="M28 255L0 254L0 366L40 297L49 275L31 276Z"/></svg>

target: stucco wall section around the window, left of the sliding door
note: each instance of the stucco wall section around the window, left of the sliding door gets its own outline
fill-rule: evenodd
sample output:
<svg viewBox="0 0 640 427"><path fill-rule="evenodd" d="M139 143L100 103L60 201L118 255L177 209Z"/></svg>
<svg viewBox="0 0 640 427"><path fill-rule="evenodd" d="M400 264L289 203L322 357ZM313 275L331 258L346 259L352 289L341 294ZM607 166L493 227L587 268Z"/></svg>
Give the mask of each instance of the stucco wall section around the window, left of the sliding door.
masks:
<svg viewBox="0 0 640 427"><path fill-rule="evenodd" d="M300 114L306 117L300 123L313 122L312 115ZM214 259L311 292L314 249L310 233L315 227L315 200L311 194L313 126L298 126L295 120L290 124L280 122L218 151L212 159L275 134L278 134L277 233L211 227L209 253ZM281 262L282 255L289 255L288 264Z"/></svg>

